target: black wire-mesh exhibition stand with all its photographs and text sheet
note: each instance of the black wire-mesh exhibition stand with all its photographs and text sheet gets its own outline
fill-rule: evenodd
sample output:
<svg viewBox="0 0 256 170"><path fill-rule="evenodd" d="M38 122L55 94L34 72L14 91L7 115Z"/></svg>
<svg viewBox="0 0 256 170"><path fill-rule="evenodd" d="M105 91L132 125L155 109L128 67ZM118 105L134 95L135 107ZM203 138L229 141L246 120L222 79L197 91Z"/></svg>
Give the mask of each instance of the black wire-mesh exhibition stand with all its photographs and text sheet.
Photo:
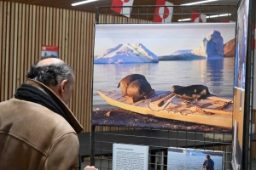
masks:
<svg viewBox="0 0 256 170"><path fill-rule="evenodd" d="M96 9L90 153L82 154L90 154L91 165L187 169L183 162L193 160L201 168L210 155L216 169L251 168L253 3L243 0L237 7ZM125 12L117 14L119 9ZM109 20L111 15L127 18ZM149 97L129 94L130 88L143 89L139 82L150 84Z"/></svg>

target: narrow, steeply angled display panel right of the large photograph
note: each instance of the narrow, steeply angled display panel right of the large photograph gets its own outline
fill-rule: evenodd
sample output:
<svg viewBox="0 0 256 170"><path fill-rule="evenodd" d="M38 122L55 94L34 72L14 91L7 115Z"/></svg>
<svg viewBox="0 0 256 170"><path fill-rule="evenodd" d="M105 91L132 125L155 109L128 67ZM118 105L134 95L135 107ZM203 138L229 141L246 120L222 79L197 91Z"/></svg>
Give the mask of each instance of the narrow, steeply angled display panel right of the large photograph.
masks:
<svg viewBox="0 0 256 170"><path fill-rule="evenodd" d="M232 167L241 169L242 136L245 104L246 63L247 63L247 32L249 0L241 1L237 11L236 23L236 58L234 82L233 111L233 152Z"/></svg>

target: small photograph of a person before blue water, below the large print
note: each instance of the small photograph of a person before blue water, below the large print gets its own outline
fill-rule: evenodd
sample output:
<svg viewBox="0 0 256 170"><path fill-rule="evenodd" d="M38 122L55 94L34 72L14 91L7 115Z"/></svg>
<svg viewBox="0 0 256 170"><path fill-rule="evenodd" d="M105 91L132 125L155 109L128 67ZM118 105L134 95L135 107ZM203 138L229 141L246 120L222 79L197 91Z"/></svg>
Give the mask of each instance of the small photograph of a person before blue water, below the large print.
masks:
<svg viewBox="0 0 256 170"><path fill-rule="evenodd" d="M184 148L169 148L167 170L174 169L204 169L203 164L207 159L207 155L214 163L214 170L223 169L223 152L207 151L207 150L192 150ZM212 168L213 169L213 168Z"/></svg>

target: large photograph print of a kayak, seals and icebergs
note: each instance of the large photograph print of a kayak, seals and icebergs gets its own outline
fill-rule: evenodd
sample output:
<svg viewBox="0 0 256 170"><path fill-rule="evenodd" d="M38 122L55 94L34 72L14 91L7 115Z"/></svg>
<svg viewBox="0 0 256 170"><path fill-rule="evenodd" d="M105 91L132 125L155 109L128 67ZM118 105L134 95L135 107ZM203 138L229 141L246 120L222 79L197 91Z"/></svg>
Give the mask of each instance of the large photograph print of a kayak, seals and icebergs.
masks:
<svg viewBox="0 0 256 170"><path fill-rule="evenodd" d="M234 49L234 23L96 25L92 124L231 128Z"/></svg>

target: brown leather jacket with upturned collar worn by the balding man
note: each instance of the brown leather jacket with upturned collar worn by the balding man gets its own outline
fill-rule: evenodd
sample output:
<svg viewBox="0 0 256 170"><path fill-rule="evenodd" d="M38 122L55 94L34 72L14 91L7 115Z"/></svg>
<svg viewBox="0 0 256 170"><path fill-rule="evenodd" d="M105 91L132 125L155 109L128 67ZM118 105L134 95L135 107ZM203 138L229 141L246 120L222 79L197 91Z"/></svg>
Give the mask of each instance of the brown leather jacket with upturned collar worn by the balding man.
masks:
<svg viewBox="0 0 256 170"><path fill-rule="evenodd" d="M44 84L33 80L26 83L55 99L71 125L43 105L20 99L0 103L0 170L78 169L77 133L83 127Z"/></svg>

